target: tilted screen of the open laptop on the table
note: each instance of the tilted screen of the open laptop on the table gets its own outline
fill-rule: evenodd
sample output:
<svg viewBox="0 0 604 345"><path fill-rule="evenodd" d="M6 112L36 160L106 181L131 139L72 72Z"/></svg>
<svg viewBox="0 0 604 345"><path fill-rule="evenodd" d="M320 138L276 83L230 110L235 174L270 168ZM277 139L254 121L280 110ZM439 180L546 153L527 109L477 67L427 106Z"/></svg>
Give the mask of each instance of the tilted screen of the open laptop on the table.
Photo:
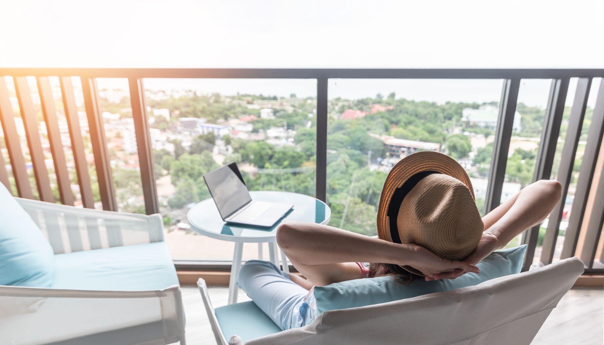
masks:
<svg viewBox="0 0 604 345"><path fill-rule="evenodd" d="M208 172L204 180L222 219L252 201L236 163Z"/></svg>

